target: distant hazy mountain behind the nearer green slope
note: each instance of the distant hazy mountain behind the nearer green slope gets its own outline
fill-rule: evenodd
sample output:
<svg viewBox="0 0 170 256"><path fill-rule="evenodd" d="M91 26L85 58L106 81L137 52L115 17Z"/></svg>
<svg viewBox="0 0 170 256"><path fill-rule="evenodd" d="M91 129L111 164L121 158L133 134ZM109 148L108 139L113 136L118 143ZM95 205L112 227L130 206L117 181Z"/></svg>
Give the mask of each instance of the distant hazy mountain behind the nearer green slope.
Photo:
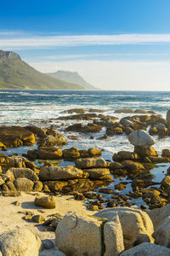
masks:
<svg viewBox="0 0 170 256"><path fill-rule="evenodd" d="M51 76L55 79L60 79L68 83L82 85L85 88L85 90L98 90L93 85L88 84L88 82L82 79L82 77L77 72L59 70L55 73L47 73L47 74L48 76Z"/></svg>

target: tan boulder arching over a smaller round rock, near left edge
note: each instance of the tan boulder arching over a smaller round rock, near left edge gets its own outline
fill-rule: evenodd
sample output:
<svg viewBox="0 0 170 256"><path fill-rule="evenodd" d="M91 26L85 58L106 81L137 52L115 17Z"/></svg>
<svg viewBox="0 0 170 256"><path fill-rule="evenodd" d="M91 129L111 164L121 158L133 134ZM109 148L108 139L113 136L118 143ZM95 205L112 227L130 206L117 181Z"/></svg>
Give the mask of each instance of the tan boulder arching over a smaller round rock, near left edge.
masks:
<svg viewBox="0 0 170 256"><path fill-rule="evenodd" d="M10 168L6 172L6 175L9 177L11 181L14 181L14 179L17 177L26 177L31 181L39 180L39 178L37 177L37 174L29 168ZM13 179L13 176L14 176L14 179Z"/></svg>

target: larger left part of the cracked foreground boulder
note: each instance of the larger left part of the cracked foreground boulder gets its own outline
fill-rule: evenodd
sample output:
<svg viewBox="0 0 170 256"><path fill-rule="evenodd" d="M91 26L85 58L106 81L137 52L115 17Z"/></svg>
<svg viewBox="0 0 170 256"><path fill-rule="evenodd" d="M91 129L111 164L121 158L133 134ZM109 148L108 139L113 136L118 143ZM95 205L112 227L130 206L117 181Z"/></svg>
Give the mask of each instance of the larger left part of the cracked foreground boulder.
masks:
<svg viewBox="0 0 170 256"><path fill-rule="evenodd" d="M103 221L76 213L66 214L55 230L56 246L70 256L100 256Z"/></svg>

